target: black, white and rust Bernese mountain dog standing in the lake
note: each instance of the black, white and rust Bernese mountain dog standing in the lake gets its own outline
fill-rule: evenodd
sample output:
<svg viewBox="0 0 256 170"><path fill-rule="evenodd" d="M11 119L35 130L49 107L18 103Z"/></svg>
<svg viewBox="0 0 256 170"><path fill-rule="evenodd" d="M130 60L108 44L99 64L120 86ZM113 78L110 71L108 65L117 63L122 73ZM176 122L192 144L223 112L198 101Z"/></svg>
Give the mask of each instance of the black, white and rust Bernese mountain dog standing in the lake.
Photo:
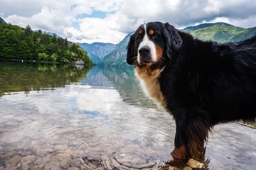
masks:
<svg viewBox="0 0 256 170"><path fill-rule="evenodd" d="M256 36L217 44L150 22L130 36L127 50L145 92L175 119L173 157L202 150L215 124L255 121Z"/></svg>

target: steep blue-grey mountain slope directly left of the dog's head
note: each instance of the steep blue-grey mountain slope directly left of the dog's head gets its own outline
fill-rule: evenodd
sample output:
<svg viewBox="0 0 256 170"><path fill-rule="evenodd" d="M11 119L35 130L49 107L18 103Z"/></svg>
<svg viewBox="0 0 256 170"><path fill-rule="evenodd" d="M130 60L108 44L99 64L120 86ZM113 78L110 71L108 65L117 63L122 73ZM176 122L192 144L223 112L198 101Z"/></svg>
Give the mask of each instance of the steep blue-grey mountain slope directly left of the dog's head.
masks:
<svg viewBox="0 0 256 170"><path fill-rule="evenodd" d="M119 44L117 44L115 49L111 53L109 53L108 55L103 57L103 59L100 62L98 62L98 64L99 65L126 66L127 65L127 63L126 63L126 53L127 53L126 47L130 40L130 35L133 33L134 32L126 35L124 40L119 42Z"/></svg>

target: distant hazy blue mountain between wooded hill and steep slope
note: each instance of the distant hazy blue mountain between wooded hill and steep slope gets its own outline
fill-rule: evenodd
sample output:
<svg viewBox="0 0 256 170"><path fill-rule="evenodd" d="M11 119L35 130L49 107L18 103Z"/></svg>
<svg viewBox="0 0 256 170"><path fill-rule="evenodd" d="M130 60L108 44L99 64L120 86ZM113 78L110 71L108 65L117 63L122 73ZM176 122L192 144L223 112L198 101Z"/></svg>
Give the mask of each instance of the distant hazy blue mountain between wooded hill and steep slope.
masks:
<svg viewBox="0 0 256 170"><path fill-rule="evenodd" d="M78 43L83 49L85 49L91 58L92 62L99 62L104 56L108 55L115 49L117 44L94 42L92 44L88 43Z"/></svg>

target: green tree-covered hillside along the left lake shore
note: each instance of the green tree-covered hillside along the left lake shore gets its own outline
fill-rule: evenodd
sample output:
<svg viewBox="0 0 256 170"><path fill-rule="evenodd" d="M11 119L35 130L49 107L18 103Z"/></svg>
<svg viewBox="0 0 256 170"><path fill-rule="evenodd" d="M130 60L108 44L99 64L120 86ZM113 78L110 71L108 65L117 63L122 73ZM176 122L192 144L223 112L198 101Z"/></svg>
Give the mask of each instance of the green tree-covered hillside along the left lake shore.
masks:
<svg viewBox="0 0 256 170"><path fill-rule="evenodd" d="M92 64L79 44L68 45L67 38L33 31L29 25L21 28L0 22L0 58L49 62L74 62L79 59Z"/></svg>

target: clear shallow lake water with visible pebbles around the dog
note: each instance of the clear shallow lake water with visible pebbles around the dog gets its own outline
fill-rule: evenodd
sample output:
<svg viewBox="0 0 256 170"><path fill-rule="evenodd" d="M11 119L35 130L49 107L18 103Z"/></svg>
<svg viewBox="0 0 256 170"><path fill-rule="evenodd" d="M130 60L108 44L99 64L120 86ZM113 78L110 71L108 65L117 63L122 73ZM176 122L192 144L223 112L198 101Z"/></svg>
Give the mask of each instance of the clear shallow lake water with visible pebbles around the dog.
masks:
<svg viewBox="0 0 256 170"><path fill-rule="evenodd" d="M132 68L0 60L0 170L160 170L174 135ZM255 170L255 139L254 128L215 126L208 169Z"/></svg>

